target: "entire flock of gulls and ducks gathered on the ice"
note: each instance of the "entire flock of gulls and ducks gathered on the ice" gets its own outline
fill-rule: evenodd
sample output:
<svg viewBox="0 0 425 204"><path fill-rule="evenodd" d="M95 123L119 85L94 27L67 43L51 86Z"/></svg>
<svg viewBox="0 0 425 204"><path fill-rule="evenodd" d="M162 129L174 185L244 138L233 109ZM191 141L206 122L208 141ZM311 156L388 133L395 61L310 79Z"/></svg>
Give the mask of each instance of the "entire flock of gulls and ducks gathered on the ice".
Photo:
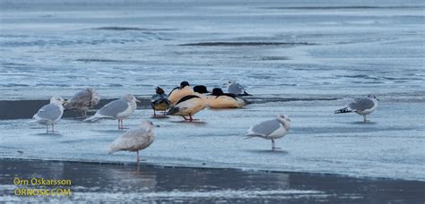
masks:
<svg viewBox="0 0 425 204"><path fill-rule="evenodd" d="M195 86L193 89L187 81L182 81L180 86L172 89L167 95L164 89L156 88L156 94L151 98L153 117L163 115L179 115L186 122L193 122L194 115L206 107L210 108L241 108L247 105L247 100L243 97L251 96L236 81L225 83L228 93L224 93L220 88L214 88L212 91L203 86ZM377 108L377 97L368 95L366 98L355 98L347 106L336 110L335 114L357 113L363 115L364 122L367 122L366 115L371 114ZM113 100L107 105L102 106L95 115L87 117L86 112L100 103L100 95L93 88L82 89L75 93L73 98L64 100L61 97L52 97L50 104L39 108L37 114L33 116L35 122L46 125L46 132L51 125L51 131L55 132L55 123L57 123L64 111L79 110L82 112L83 121L94 122L103 118L115 119L118 122L118 129L126 129L124 120L134 113L137 107L136 103L141 101L131 94L126 94L123 98ZM161 111L160 115L157 111ZM139 151L149 147L155 136L153 133L153 123L143 121L138 127L128 130L110 146L110 152L120 150L135 151L137 153L137 163L139 162ZM266 140L272 140L272 150L279 149L275 147L274 140L282 138L291 128L291 119L287 115L277 115L274 119L257 123L251 126L246 136L247 138L259 137Z"/></svg>

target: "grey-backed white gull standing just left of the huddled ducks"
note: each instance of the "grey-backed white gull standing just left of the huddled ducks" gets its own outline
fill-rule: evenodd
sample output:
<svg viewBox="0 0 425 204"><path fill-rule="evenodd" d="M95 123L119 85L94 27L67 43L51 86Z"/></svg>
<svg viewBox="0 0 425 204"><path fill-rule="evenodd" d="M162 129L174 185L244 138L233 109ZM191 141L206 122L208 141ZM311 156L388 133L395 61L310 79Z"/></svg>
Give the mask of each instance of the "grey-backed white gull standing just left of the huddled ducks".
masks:
<svg viewBox="0 0 425 204"><path fill-rule="evenodd" d="M137 107L136 102L140 100L134 98L131 94L126 94L124 98L113 100L107 105L101 107L95 115L84 121L97 121L101 118L113 118L118 120L118 129L125 129L123 120L132 115Z"/></svg>

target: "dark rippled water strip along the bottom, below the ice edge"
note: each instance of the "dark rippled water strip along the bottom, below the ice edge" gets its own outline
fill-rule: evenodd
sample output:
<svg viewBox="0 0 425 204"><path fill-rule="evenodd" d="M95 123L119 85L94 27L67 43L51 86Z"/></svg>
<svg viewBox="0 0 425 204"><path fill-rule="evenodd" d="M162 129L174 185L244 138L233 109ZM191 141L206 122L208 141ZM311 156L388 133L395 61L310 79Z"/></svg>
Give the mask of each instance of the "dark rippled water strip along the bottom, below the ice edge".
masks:
<svg viewBox="0 0 425 204"><path fill-rule="evenodd" d="M20 200L12 196L15 176L72 180L71 197L32 201L423 202L419 195L425 189L423 182L231 169L140 166L137 170L133 165L23 160L2 160L0 167L0 201Z"/></svg>

